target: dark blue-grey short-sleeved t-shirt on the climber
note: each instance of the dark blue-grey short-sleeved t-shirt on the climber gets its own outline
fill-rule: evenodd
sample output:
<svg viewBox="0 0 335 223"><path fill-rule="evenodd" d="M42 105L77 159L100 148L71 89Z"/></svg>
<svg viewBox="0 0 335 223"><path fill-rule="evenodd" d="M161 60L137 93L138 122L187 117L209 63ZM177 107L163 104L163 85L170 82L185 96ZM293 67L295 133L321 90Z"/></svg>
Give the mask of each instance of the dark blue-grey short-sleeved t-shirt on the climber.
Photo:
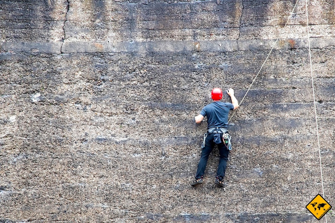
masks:
<svg viewBox="0 0 335 223"><path fill-rule="evenodd" d="M232 103L214 101L201 109L200 115L207 116L207 128L225 127L227 129L229 110L234 110Z"/></svg>

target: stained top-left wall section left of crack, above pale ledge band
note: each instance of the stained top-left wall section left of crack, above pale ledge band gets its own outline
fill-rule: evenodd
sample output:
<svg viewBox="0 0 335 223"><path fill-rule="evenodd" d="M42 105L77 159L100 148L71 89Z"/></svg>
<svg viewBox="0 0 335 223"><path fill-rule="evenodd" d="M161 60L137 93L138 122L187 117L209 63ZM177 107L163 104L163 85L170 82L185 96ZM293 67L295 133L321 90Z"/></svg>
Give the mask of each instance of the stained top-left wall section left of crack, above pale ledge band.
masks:
<svg viewBox="0 0 335 223"><path fill-rule="evenodd" d="M66 4L51 0L1 4L2 41L58 42L64 38Z"/></svg>

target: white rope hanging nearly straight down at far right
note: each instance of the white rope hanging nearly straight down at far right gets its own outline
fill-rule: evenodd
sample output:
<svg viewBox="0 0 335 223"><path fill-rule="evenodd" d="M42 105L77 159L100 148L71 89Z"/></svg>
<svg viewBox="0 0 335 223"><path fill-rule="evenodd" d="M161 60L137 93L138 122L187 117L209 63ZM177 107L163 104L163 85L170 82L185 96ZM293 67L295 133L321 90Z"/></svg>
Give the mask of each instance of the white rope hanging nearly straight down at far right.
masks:
<svg viewBox="0 0 335 223"><path fill-rule="evenodd" d="M316 112L316 101L315 101L315 92L314 92L314 79L313 79L313 69L312 69L312 59L311 59L311 43L310 43L310 28L309 28L309 21L308 21L308 8L307 8L307 0L306 0L306 18L307 18L307 35L308 35L308 50L310 56L310 67L311 67L311 77L312 77L312 89L313 89L313 99L314 99L314 113L315 113L315 122L316 122L316 134L318 137L318 148L319 148L319 160L320 160L320 171L321 171L321 184L322 184L322 195L323 198L325 197L325 190L323 187L323 177L322 177L322 163L321 163L321 151L320 151L320 139L319 139L319 127L318 127L318 118ZM326 223L327 223L327 215L326 216Z"/></svg>

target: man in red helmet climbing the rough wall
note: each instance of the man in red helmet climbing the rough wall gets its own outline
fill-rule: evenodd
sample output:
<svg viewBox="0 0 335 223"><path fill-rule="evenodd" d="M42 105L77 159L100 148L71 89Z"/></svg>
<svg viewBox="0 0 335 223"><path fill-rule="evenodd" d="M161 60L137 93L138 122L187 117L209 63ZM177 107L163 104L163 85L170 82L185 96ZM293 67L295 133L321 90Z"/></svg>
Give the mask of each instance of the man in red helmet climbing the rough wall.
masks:
<svg viewBox="0 0 335 223"><path fill-rule="evenodd" d="M202 108L200 114L195 117L195 122L199 124L205 116L207 116L207 133L204 135L204 142L201 151L200 161L198 163L197 173L195 175L195 180L191 182L191 185L196 185L203 183L203 176L205 173L205 168L207 165L207 160L209 154L212 152L214 145L216 144L219 153L220 161L217 167L217 172L215 176L215 184L222 187L223 177L227 166L228 155L229 155L229 146L227 141L222 139L222 136L228 135L228 113L229 110L234 110L239 107L239 102L234 96L234 90L229 88L226 90L227 94L230 96L230 102L222 102L222 90L220 88L213 88L211 95L213 102L207 104ZM229 136L230 144L230 136Z"/></svg>

